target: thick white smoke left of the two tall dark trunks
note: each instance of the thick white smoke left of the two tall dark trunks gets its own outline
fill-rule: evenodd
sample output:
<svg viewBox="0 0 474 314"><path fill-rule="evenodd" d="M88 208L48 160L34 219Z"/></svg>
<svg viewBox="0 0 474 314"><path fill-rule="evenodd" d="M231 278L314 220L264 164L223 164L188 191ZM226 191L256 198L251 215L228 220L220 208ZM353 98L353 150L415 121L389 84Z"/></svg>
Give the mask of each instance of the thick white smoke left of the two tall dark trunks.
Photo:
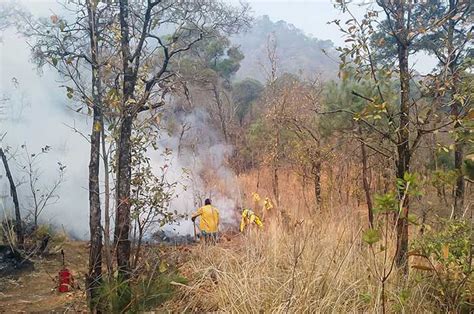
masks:
<svg viewBox="0 0 474 314"><path fill-rule="evenodd" d="M52 150L42 156L40 184L50 185L57 178L58 165L67 166L65 182L60 187L59 201L45 209L43 222L63 225L75 237L85 238L88 234L88 182L87 165L89 145L85 139L66 126L75 126L87 134L89 118L68 109L71 105L59 76L45 68L40 75L30 63L30 49L25 39L13 30L3 33L0 44L0 95L7 100L3 103L4 116L0 122L0 132L7 133L2 146L10 146L17 158L23 151L19 147L26 144L30 153L37 153L49 145ZM22 181L24 174L15 160L10 161L16 181ZM1 181L6 181L3 165L0 167ZM0 185L1 195L9 195L8 185ZM6 190L5 190L6 189ZM25 216L31 198L27 184L18 187L20 207ZM6 199L5 209L12 204ZM2 215L3 216L3 215Z"/></svg>

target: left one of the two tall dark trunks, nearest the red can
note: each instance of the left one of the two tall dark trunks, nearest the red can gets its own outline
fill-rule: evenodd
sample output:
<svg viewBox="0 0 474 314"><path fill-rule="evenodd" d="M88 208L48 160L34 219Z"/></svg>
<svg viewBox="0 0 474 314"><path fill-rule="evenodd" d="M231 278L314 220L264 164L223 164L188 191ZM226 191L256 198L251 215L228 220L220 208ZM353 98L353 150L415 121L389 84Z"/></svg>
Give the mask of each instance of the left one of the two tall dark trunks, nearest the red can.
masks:
<svg viewBox="0 0 474 314"><path fill-rule="evenodd" d="M99 288L102 280L102 226L100 210L100 136L102 125L102 104L100 68L97 42L97 18L94 4L87 2L89 18L89 36L91 44L92 61L92 100L93 100L93 123L91 132L91 151L89 161L89 230L90 230L90 252L89 272L86 280L87 296L92 312L99 312L97 308Z"/></svg>

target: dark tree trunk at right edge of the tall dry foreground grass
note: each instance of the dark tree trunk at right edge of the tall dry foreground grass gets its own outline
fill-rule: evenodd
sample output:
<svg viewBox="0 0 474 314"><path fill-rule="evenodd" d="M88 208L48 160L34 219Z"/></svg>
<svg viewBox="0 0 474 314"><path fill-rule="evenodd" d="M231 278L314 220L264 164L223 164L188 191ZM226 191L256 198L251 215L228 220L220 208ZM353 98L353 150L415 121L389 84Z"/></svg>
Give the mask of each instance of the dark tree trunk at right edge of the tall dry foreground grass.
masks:
<svg viewBox="0 0 474 314"><path fill-rule="evenodd" d="M397 13L401 18L397 20L399 29L403 26L403 5L400 5L401 10ZM401 12L400 12L401 11ZM410 170L410 74L408 68L408 48L405 42L399 40L398 42L398 62L400 69L400 125L398 128L398 143L397 143L397 161L396 161L396 175L398 179L403 179L404 174ZM404 197L405 190L399 190L399 199L402 212L397 220L397 251L395 261L397 266L403 268L405 273L408 273L408 213L409 213L409 199Z"/></svg>

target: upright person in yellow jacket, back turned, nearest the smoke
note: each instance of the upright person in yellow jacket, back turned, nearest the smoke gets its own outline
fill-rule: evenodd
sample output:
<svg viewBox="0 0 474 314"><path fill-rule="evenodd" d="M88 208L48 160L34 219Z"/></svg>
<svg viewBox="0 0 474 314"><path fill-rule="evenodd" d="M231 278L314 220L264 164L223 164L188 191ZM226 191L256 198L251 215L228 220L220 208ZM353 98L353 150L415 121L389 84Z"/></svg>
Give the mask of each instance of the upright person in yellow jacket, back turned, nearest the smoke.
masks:
<svg viewBox="0 0 474 314"><path fill-rule="evenodd" d="M191 216L194 222L199 217L199 229L206 243L215 243L217 241L217 232L219 231L219 210L211 205L211 200L206 199L204 206L199 208Z"/></svg>

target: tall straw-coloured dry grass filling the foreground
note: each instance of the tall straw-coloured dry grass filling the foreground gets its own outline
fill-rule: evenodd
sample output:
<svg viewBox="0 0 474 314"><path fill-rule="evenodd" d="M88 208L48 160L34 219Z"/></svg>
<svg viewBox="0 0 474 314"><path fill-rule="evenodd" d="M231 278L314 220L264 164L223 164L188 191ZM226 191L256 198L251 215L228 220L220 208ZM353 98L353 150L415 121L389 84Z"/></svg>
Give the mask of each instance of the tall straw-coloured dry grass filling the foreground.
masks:
<svg viewBox="0 0 474 314"><path fill-rule="evenodd" d="M190 278L168 310L234 313L381 312L381 285L362 225L353 214L276 220L217 246L193 250L181 271ZM380 265L378 265L380 266ZM387 312L436 312L428 286L395 272ZM408 297L409 296L409 297Z"/></svg>

